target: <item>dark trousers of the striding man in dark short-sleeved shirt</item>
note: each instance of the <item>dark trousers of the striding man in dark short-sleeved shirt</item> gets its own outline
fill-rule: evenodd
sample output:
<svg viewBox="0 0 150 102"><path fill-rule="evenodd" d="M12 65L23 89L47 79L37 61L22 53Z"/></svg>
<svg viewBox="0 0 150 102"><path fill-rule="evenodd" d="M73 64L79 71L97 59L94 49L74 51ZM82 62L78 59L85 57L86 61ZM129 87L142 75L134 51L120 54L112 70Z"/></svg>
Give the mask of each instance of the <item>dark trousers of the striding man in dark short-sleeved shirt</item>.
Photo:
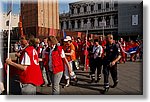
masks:
<svg viewBox="0 0 150 102"><path fill-rule="evenodd" d="M104 88L109 87L109 72L111 74L111 77L113 79L113 82L118 81L118 76L117 76L117 64L114 66L110 66L109 62L105 61L103 64L103 74L104 74Z"/></svg>

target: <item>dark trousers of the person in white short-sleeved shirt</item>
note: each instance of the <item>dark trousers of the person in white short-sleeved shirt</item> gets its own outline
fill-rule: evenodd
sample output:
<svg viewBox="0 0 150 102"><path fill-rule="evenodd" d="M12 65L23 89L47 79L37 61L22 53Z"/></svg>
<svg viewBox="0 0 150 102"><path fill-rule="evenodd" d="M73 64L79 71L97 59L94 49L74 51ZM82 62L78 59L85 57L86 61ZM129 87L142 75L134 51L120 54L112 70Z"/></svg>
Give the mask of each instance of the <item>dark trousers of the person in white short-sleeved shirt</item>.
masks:
<svg viewBox="0 0 150 102"><path fill-rule="evenodd" d="M91 68L91 76L92 79L95 78L95 71L97 69L97 78L101 78L101 69L102 69L102 58L97 57L96 59L93 59L93 67Z"/></svg>

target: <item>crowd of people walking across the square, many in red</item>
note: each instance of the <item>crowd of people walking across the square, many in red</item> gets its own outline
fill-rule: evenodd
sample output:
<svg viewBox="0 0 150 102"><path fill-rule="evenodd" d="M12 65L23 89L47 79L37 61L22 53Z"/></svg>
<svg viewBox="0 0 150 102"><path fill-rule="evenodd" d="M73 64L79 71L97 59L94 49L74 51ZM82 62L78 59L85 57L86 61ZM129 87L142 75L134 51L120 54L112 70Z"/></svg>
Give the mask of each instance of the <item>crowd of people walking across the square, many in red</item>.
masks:
<svg viewBox="0 0 150 102"><path fill-rule="evenodd" d="M115 41L112 34L99 39L85 37L83 40L80 37L75 39L66 36L60 41L55 36L41 41L33 36L22 36L15 44L14 51L17 60L7 58L6 64L10 65L13 75L19 77L21 91L17 94L36 94L36 86L47 85L52 87L53 95L59 95L63 76L66 87L69 87L70 81L77 84L75 70L79 70L81 66L85 70L90 69L90 83L98 83L104 76L105 93L110 87L109 73L114 83L111 88L115 88L119 82L117 64L142 59L143 44L142 40L126 42L120 38Z"/></svg>

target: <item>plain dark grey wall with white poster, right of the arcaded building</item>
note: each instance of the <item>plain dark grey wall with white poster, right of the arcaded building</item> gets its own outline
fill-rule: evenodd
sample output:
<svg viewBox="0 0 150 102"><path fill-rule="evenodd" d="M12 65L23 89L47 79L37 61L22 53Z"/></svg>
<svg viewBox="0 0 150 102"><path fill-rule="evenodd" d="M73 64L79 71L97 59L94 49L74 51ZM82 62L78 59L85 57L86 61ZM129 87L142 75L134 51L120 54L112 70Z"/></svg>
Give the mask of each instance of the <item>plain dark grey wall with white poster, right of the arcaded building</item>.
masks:
<svg viewBox="0 0 150 102"><path fill-rule="evenodd" d="M121 36L142 35L143 4L141 2L118 5L118 34ZM132 25L132 15L138 15L138 25Z"/></svg>

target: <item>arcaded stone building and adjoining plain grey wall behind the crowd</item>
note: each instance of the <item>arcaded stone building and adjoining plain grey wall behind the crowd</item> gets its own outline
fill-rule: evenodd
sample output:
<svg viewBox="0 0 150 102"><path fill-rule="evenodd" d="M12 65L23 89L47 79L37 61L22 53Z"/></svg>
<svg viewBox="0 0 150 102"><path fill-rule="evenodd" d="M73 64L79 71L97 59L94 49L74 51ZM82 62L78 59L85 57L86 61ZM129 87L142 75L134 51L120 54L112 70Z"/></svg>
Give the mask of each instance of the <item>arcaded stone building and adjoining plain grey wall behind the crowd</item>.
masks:
<svg viewBox="0 0 150 102"><path fill-rule="evenodd" d="M91 5L94 10L91 11ZM87 10L84 11L84 8ZM78 12L79 9L79 12ZM132 15L138 15L138 25L132 25ZM83 22L83 20L85 22ZM106 22L103 27L99 22ZM78 23L78 21L80 23ZM89 33L119 36L138 36L143 34L142 0L127 2L118 0L79 1L69 4L69 13L60 14L60 28L77 32L86 32L89 21ZM71 24L69 24L71 22ZM68 27L68 25L71 25ZM80 25L75 26L75 25Z"/></svg>

